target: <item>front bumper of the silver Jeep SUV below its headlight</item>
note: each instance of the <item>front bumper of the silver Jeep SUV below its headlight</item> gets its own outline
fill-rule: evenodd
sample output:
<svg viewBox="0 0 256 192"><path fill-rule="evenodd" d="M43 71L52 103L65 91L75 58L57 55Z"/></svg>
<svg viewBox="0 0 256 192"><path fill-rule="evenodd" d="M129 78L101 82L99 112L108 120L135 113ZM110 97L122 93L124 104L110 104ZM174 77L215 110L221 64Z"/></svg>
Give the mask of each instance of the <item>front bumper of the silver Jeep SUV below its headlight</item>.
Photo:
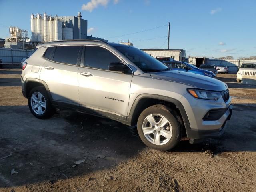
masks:
<svg viewBox="0 0 256 192"><path fill-rule="evenodd" d="M186 125L186 134L190 139L212 138L220 136L232 115L231 97L224 102L222 98L213 100L196 99L190 94L185 94L180 102L188 116L189 126ZM204 120L209 111L226 109L218 120Z"/></svg>

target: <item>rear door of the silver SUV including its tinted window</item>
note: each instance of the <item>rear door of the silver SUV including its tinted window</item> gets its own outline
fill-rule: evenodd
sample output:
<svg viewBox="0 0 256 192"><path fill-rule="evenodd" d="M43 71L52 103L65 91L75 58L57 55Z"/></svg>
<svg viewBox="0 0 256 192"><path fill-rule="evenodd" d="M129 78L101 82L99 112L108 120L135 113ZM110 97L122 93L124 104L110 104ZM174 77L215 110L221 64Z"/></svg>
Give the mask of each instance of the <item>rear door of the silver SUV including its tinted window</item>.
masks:
<svg viewBox="0 0 256 192"><path fill-rule="evenodd" d="M42 67L40 79L46 82L54 101L79 105L77 63L81 47L49 47L44 54L48 60Z"/></svg>

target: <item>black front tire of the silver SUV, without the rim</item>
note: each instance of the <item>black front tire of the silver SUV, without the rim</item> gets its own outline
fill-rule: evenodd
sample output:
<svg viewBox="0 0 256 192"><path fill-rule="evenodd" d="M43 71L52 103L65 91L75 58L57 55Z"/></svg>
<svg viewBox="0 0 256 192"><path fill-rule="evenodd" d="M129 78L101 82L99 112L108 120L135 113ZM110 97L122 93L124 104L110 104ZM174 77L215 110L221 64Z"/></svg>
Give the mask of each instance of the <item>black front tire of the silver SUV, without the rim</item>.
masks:
<svg viewBox="0 0 256 192"><path fill-rule="evenodd" d="M144 119L149 116L150 114L160 114L167 118L167 120L171 124L172 128L172 136L170 140L166 144L162 145L156 145L150 142L146 136L143 133L142 130L142 124L144 122ZM137 122L137 129L138 129L138 134L140 136L140 139L146 146L149 146L150 148L154 148L156 150L160 151L168 151L172 148L174 148L181 139L181 128L180 128L180 123L177 120L177 115L175 112L171 111L168 107L164 105L153 105L148 108L146 108L139 116L138 122Z"/></svg>

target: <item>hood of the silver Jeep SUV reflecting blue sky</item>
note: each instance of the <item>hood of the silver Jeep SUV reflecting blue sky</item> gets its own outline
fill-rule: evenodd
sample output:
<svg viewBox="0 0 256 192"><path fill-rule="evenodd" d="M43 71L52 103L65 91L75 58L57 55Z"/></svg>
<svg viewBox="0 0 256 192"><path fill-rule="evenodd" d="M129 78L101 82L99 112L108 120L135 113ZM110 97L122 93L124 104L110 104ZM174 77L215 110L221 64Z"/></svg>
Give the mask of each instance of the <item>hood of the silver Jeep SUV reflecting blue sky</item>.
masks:
<svg viewBox="0 0 256 192"><path fill-rule="evenodd" d="M228 86L217 79L185 71L163 71L150 74L152 78L187 84L198 89L223 91Z"/></svg>

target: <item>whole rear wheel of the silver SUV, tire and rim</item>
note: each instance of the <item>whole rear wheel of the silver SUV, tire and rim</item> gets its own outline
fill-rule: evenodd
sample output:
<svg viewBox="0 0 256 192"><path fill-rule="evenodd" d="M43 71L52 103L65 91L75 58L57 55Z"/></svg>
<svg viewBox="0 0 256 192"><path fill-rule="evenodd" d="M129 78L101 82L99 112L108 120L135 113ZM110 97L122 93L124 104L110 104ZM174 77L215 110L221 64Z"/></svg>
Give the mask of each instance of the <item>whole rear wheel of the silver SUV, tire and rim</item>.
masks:
<svg viewBox="0 0 256 192"><path fill-rule="evenodd" d="M39 118L45 119L52 116L54 110L43 86L33 88L28 95L28 106L31 113Z"/></svg>

